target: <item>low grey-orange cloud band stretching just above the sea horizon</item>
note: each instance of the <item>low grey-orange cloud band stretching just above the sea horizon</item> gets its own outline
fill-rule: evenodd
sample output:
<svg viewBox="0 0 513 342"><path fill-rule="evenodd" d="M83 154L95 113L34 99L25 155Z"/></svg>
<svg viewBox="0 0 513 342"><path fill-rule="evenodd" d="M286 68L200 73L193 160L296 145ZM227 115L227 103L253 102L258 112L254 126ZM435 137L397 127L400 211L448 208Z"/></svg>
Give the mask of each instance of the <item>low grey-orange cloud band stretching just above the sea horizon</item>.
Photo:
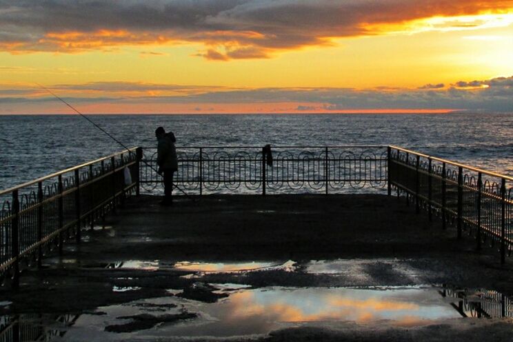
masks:
<svg viewBox="0 0 513 342"><path fill-rule="evenodd" d="M416 89L356 90L353 88L224 88L179 86L155 83L96 82L52 86L52 91L70 103L123 105L174 105L180 108L217 108L230 105L237 109L276 103L283 112L340 112L365 109L387 110L483 110L513 112L513 76L483 81L459 81L442 88L440 84ZM0 85L0 103L23 105L53 101L40 89ZM284 105L286 104L286 105ZM279 107L281 105L281 107ZM270 108L270 107L264 107ZM281 109L280 109L281 108ZM219 110L219 109L218 109ZM219 110L222 111L222 110Z"/></svg>

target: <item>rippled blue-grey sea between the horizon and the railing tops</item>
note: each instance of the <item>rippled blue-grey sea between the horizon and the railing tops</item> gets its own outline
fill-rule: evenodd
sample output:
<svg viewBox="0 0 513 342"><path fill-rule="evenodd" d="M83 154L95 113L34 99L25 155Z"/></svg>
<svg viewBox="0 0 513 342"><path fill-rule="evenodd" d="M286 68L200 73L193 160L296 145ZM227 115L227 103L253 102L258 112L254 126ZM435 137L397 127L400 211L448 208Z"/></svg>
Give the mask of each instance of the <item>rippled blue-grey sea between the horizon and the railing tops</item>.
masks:
<svg viewBox="0 0 513 342"><path fill-rule="evenodd" d="M92 115L123 144L399 145L513 176L513 114ZM79 115L0 116L0 189L123 150Z"/></svg>

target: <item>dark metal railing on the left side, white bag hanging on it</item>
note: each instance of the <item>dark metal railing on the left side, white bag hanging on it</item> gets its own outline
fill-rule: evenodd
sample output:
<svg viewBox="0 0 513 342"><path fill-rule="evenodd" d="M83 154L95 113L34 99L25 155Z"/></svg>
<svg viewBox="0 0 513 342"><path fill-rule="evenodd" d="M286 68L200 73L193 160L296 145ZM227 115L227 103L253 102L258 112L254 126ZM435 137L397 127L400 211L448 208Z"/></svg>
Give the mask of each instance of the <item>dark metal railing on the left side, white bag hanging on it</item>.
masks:
<svg viewBox="0 0 513 342"><path fill-rule="evenodd" d="M80 241L82 226L139 193L140 159L141 148L133 148L0 191L0 279L16 288L22 261L41 265L48 250L62 252L73 235Z"/></svg>

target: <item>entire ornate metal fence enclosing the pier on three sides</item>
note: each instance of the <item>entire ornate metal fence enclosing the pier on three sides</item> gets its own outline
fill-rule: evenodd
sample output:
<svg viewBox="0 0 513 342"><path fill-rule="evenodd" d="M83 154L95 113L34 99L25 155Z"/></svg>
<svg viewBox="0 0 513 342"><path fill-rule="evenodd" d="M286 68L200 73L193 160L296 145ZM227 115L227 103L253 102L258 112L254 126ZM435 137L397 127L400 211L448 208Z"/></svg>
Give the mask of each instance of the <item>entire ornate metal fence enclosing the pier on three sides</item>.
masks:
<svg viewBox="0 0 513 342"><path fill-rule="evenodd" d="M179 147L177 186L188 194L396 194L427 218L472 235L476 249L513 248L513 178L396 146L278 146L273 165L254 146ZM159 194L154 148L131 148L0 192L0 278L14 288L23 267L81 239L125 199ZM132 175L125 183L125 168ZM179 195L178 192L175 194Z"/></svg>

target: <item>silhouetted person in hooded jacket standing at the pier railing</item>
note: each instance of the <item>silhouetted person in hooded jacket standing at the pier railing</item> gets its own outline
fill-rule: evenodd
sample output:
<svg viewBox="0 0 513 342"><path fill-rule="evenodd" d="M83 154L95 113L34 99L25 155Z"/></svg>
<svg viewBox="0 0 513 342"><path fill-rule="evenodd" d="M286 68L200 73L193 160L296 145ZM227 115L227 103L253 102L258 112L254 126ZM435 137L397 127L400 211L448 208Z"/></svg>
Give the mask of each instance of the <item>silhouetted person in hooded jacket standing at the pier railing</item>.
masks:
<svg viewBox="0 0 513 342"><path fill-rule="evenodd" d="M159 174L163 174L164 181L164 199L161 205L172 205L173 176L178 170L177 149L174 147L174 138L172 132L165 134L163 127L155 130L157 137L157 165L159 165Z"/></svg>

